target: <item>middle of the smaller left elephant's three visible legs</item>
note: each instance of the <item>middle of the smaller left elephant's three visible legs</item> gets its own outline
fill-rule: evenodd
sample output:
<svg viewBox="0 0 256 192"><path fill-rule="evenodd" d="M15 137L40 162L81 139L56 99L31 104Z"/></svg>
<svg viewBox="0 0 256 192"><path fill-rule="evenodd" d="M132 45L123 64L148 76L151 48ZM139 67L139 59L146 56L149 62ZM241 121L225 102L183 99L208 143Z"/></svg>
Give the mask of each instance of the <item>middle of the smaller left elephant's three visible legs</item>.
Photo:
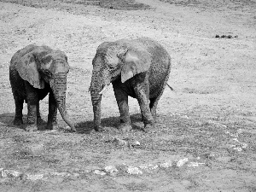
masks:
<svg viewBox="0 0 256 192"><path fill-rule="evenodd" d="M38 93L28 82L25 83L27 100L27 126L26 131L37 131Z"/></svg>

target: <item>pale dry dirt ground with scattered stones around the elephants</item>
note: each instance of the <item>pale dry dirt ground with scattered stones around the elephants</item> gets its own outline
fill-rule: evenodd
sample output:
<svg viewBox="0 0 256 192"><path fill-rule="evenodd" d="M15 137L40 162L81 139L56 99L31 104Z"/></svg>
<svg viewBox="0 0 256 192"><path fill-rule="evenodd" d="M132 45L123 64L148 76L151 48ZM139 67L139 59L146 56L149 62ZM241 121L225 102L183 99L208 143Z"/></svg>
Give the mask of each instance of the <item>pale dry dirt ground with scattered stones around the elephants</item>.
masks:
<svg viewBox="0 0 256 192"><path fill-rule="evenodd" d="M255 12L255 0L1 0L0 191L256 191ZM104 131L93 131L96 47L137 37L168 50L174 91L161 97L152 133L140 130L130 99L134 130L124 134L109 89ZM9 61L27 44L67 53L67 109L78 134L65 131L60 116L60 131L13 125ZM23 113L26 121L26 106Z"/></svg>

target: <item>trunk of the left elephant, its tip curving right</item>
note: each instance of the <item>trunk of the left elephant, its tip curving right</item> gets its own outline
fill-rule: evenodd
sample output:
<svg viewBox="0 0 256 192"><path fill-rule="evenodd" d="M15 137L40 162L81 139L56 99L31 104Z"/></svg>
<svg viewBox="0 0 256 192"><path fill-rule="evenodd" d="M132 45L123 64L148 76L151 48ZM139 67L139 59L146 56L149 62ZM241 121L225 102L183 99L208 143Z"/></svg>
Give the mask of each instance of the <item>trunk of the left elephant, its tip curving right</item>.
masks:
<svg viewBox="0 0 256 192"><path fill-rule="evenodd" d="M62 119L70 126L72 131L76 131L73 122L69 119L66 109L66 90L67 90L67 74L58 73L55 74L55 78L49 82L51 89L53 90L57 108L61 113Z"/></svg>

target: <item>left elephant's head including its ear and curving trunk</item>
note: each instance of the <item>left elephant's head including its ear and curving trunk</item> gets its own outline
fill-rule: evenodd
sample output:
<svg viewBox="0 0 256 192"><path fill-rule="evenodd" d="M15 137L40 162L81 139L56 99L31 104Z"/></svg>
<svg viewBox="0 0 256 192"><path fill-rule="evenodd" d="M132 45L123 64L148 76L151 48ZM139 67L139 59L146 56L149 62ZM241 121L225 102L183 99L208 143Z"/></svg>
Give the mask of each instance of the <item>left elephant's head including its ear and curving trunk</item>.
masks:
<svg viewBox="0 0 256 192"><path fill-rule="evenodd" d="M62 119L75 131L66 110L67 73L69 71L67 55L47 46L28 45L26 48L21 49L26 52L19 53L22 56L16 64L21 79L37 89L44 89L45 84L49 84Z"/></svg>

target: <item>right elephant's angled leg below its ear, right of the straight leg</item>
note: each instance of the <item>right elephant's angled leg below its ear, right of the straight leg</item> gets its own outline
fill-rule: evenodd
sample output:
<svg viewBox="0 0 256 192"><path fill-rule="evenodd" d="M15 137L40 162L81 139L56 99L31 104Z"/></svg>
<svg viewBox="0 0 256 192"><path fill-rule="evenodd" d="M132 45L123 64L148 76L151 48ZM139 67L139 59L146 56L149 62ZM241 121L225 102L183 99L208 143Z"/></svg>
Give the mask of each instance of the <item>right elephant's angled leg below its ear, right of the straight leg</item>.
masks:
<svg viewBox="0 0 256 192"><path fill-rule="evenodd" d="M149 84L147 81L136 84L135 94L141 108L144 130L149 131L154 127L154 118L149 108Z"/></svg>

